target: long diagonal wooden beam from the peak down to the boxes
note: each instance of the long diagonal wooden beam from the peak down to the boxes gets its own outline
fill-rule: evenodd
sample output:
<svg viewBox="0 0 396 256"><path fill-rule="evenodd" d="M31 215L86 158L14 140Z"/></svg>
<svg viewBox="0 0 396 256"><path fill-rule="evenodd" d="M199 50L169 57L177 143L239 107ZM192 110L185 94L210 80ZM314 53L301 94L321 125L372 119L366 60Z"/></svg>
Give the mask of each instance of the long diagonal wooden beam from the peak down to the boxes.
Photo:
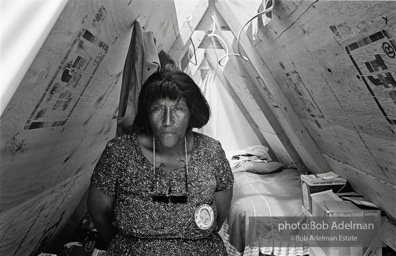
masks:
<svg viewBox="0 0 396 256"><path fill-rule="evenodd" d="M234 5L233 9L231 9L230 3L226 1L218 1L216 7L223 19L229 24L230 29L234 32L234 35L238 34L238 31L243 24L240 24L240 21L234 17L239 16L239 12L243 13L241 8L238 8L238 6ZM259 74L260 79L262 79L264 82L261 89L264 90L265 88L266 94L269 95L266 96L265 99L269 105L271 105L271 101L275 103L272 104L272 111L277 116L279 123L287 134L287 137L290 139L292 145L303 159L307 168L312 172L329 171L330 168L320 154L318 147L309 136L305 127L301 123L301 120L293 111L292 106L284 96L278 83L268 70L268 67L260 58L260 55L258 55L257 51L252 49L250 39L245 33L241 34L240 39L241 46L245 51L244 54L248 56L251 62L249 65L252 65L252 67L255 68L255 71ZM244 62L244 64L248 63Z"/></svg>

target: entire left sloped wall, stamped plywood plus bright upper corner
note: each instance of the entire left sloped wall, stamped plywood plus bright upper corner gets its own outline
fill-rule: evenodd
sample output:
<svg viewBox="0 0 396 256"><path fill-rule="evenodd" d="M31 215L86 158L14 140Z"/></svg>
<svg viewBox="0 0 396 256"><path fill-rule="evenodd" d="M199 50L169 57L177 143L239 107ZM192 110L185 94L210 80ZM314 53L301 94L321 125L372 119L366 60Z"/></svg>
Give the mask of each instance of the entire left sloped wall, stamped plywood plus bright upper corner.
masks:
<svg viewBox="0 0 396 256"><path fill-rule="evenodd" d="M4 85L15 93L0 120L1 255L35 255L51 244L85 194L115 136L137 18L153 31L158 52L169 51L179 33L173 1L69 0L27 71L18 70L20 83Z"/></svg>

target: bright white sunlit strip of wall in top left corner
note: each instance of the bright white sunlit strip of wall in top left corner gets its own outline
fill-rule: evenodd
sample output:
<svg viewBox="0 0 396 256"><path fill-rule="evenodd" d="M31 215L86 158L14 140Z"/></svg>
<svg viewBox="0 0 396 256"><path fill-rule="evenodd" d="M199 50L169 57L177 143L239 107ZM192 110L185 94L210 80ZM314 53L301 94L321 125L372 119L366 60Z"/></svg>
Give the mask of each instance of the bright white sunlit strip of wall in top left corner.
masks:
<svg viewBox="0 0 396 256"><path fill-rule="evenodd" d="M1 2L0 113L23 78L19 74L29 69L66 3L67 0Z"/></svg>

